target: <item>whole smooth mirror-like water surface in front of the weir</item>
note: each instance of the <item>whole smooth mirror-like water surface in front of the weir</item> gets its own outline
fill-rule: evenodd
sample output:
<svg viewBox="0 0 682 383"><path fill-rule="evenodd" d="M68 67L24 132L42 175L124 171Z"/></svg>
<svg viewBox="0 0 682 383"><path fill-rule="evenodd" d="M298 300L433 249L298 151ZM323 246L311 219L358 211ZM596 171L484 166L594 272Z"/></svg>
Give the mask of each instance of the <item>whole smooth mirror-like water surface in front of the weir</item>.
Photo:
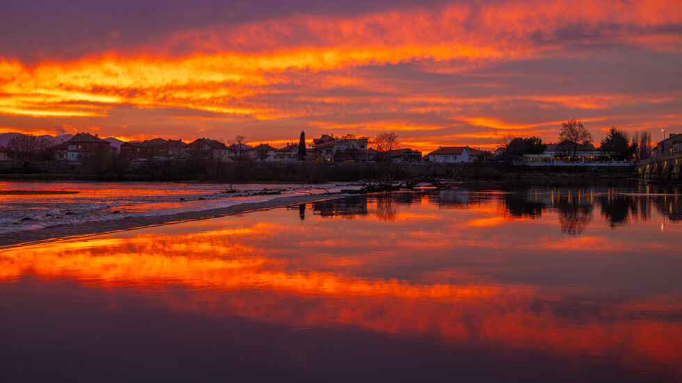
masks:
<svg viewBox="0 0 682 383"><path fill-rule="evenodd" d="M488 184L0 251L1 379L680 382L679 192Z"/></svg>

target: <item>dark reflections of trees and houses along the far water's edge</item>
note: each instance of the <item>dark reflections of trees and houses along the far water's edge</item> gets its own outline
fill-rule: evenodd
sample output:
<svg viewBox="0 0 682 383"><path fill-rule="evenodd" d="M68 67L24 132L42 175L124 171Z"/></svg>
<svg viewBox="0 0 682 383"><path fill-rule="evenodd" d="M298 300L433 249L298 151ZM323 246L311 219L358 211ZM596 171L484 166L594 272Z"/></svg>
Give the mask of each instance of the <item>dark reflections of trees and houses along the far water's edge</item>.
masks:
<svg viewBox="0 0 682 383"><path fill-rule="evenodd" d="M333 201L316 202L312 209L322 217L357 218L373 214L379 220L396 219L395 204L436 203L439 209L470 209L472 206L496 207L509 220L538 219L546 211L555 211L564 234L580 236L594 220L594 209L610 227L629 221L651 220L651 209L664 219L678 222L682 218L682 195L679 188L659 188L653 194L641 188L628 187L523 187L476 190L468 187L425 191L423 193L386 193L374 195L372 206L367 199L350 198L337 204ZM510 191L511 190L511 191ZM647 190L651 190L647 186ZM501 217L500 216L500 217ZM502 218L500 218L502 219ZM498 220L499 221L499 220ZM492 221L491 221L492 222Z"/></svg>

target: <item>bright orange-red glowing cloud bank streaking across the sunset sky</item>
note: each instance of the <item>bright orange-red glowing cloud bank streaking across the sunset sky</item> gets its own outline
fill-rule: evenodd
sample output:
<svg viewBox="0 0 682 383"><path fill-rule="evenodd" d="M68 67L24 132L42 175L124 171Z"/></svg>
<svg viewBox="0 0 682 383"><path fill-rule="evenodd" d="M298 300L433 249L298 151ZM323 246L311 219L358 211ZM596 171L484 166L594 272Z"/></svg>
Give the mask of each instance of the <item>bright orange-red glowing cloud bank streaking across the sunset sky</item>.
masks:
<svg viewBox="0 0 682 383"><path fill-rule="evenodd" d="M682 22L679 1L622 4L576 0L551 4L526 1L521 6L518 1L502 1L486 6L456 3L437 9L385 10L354 17L295 16L183 31L154 47L33 67L0 59L0 114L19 120L100 119L98 124L111 126L102 120L112 117L117 106L133 106L141 111L182 111L170 113L168 118L187 120L185 127L244 119L274 125L302 120L304 127L327 131L405 131L413 142L436 143L423 137L423 132L443 130L445 141L450 141L441 138L438 145L453 145L447 130L460 129L453 120L476 127L528 131L558 121L557 117L536 117L535 122L527 122L532 120L527 118L514 124L504 122L507 119L497 115L498 111L603 111L631 104L674 104L682 97L680 92L628 95L621 90L572 95L544 90L537 95L508 95L511 85L495 82L493 76L463 84L487 90L486 95L477 92L466 97L466 89L451 94L434 84L425 85L423 76L382 72L392 65L409 65L420 75L447 73L468 78L485 76L478 72L497 63L585 57L582 52L564 49L571 44L624 44L669 54L682 52L679 35L656 32ZM564 27L577 31L564 35ZM178 54L178 47L190 49ZM507 79L513 77L506 75ZM397 123L396 114L400 114ZM329 122L303 120L319 120L319 115ZM360 117L349 121L348 115ZM135 136L122 131L108 134ZM473 138L464 143L493 148L489 139L497 136L499 133L469 133L459 138Z"/></svg>

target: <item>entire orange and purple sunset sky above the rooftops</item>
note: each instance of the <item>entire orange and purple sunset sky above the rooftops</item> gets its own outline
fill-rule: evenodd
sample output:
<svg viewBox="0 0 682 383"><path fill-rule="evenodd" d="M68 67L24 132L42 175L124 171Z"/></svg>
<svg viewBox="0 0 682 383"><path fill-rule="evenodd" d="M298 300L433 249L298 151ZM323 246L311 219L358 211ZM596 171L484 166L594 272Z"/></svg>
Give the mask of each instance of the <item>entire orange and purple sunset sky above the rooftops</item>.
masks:
<svg viewBox="0 0 682 383"><path fill-rule="evenodd" d="M428 152L572 119L682 133L682 1L0 0L0 133Z"/></svg>

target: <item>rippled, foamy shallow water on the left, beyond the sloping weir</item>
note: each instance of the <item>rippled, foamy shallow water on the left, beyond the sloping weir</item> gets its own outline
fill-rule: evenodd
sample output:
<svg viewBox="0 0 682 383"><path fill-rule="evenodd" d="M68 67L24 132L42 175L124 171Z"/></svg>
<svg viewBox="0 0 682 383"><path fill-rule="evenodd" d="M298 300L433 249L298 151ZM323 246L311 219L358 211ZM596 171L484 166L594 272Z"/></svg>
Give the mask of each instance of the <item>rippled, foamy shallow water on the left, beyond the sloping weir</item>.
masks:
<svg viewBox="0 0 682 383"><path fill-rule="evenodd" d="M223 184L0 182L0 233L61 224L167 215L262 202L278 197L338 192L349 184ZM47 192L47 193L46 193ZM280 194L263 194L279 192Z"/></svg>

